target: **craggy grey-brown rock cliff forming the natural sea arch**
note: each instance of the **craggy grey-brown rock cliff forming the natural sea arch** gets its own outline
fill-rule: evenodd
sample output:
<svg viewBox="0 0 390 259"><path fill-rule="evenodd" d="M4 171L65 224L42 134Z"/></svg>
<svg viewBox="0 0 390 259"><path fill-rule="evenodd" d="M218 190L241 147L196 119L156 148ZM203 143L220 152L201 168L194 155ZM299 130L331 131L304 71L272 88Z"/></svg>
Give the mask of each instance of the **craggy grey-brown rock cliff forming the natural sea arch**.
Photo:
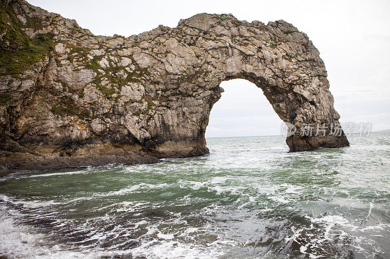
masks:
<svg viewBox="0 0 390 259"><path fill-rule="evenodd" d="M301 137L303 125L329 126L340 116L318 50L283 20L265 25L198 14L176 28L125 38L92 35L26 1L2 1L1 8L8 27L48 46L19 73L1 65L3 156L207 154L204 134L219 85L236 78L261 88L277 115L296 127L286 139L291 151L349 145L329 128L326 136ZM12 30L0 32L1 50L18 54L10 49Z"/></svg>

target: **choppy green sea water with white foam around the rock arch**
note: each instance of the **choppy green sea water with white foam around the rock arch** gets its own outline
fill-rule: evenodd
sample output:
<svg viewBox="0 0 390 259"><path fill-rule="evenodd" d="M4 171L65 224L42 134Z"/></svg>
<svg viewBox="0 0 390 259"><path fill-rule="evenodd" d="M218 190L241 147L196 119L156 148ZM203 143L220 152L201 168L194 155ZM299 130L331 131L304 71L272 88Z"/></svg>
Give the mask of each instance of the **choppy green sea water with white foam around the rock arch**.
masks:
<svg viewBox="0 0 390 259"><path fill-rule="evenodd" d="M289 153L281 136L211 154L0 179L9 258L390 258L390 133Z"/></svg>

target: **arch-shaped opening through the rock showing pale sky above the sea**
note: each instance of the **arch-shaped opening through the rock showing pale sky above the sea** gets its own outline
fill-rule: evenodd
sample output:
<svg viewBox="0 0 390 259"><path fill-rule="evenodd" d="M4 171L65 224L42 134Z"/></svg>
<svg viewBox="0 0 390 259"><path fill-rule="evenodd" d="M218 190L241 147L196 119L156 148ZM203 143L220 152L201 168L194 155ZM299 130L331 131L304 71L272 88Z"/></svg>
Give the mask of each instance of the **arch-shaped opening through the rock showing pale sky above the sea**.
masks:
<svg viewBox="0 0 390 259"><path fill-rule="evenodd" d="M261 88L245 79L223 81L221 98L214 104L206 138L281 135L283 121Z"/></svg>

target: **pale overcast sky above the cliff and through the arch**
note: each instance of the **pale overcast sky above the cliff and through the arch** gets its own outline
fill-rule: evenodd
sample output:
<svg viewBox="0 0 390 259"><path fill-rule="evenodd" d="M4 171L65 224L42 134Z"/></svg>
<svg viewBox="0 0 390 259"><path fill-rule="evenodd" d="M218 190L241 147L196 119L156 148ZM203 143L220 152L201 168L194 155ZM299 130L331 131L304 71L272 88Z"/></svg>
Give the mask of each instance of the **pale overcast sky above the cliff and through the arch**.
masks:
<svg viewBox="0 0 390 259"><path fill-rule="evenodd" d="M283 19L305 32L324 60L341 122L390 129L389 0L28 0L74 18L95 35L139 34L159 24L176 27L197 13L231 13L264 23ZM261 89L245 80L223 82L206 137L278 135L282 122Z"/></svg>

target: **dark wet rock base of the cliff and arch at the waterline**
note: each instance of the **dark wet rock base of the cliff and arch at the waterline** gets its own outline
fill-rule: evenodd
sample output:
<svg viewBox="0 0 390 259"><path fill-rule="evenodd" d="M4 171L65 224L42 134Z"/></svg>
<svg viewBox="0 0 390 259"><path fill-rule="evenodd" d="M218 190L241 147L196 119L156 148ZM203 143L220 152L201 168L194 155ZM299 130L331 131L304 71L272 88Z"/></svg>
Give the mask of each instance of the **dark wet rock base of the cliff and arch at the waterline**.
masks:
<svg viewBox="0 0 390 259"><path fill-rule="evenodd" d="M286 142L291 152L309 151L320 147L340 148L350 145L345 135L310 138L299 138L293 135L287 138ZM0 151L0 176L13 173L15 170L58 170L109 164L153 164L161 162L159 158L184 158L210 154L205 141L167 142L148 153L137 150L137 147L133 147L133 150L111 147L107 153L92 149L89 152L84 150L82 155L69 156L42 155L13 143L15 145L7 146L9 151Z"/></svg>

